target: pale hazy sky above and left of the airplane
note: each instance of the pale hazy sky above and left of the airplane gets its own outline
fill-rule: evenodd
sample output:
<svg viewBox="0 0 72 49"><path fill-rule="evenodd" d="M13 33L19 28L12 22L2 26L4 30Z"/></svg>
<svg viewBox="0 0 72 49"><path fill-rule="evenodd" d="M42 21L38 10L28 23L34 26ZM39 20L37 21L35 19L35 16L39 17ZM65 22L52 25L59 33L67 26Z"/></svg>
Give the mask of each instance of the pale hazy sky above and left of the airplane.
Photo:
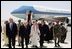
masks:
<svg viewBox="0 0 72 49"><path fill-rule="evenodd" d="M12 16L10 13L21 7L21 6L45 6L56 9L64 9L71 11L71 1L1 1L1 20L8 20L12 17L13 19L18 19ZM44 7L44 8L45 8Z"/></svg>

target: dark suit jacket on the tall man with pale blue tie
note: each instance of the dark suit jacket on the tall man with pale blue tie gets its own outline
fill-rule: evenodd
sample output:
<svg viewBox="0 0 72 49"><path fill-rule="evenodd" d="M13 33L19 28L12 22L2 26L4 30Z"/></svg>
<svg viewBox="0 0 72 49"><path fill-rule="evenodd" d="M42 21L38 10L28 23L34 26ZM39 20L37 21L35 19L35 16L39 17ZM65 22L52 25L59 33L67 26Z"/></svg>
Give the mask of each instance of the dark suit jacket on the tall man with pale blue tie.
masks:
<svg viewBox="0 0 72 49"><path fill-rule="evenodd" d="M17 25L13 23L12 30L10 29L10 23L6 24L6 35L8 37L15 37L17 34Z"/></svg>

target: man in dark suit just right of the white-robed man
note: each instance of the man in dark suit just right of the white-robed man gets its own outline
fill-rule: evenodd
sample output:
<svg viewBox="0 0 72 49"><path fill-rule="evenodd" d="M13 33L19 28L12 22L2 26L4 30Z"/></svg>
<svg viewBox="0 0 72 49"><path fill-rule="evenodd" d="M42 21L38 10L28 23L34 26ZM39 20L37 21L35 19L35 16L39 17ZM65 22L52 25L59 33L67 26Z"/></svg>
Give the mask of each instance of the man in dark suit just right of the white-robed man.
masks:
<svg viewBox="0 0 72 49"><path fill-rule="evenodd" d="M44 20L42 20L42 24L39 24L39 30L40 30L40 47L42 48L46 36L46 28Z"/></svg>

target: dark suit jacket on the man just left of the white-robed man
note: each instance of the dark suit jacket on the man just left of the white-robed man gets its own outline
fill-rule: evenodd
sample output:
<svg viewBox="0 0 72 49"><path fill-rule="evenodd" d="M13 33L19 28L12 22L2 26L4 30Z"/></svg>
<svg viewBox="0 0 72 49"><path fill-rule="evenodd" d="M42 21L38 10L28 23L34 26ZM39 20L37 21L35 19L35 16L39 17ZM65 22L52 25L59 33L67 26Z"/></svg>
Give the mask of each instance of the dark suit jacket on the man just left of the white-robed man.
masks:
<svg viewBox="0 0 72 49"><path fill-rule="evenodd" d="M27 35L29 36L30 30L31 30L31 27L29 25L27 25L26 28L24 25L21 25L19 28L19 35L20 36L27 36Z"/></svg>

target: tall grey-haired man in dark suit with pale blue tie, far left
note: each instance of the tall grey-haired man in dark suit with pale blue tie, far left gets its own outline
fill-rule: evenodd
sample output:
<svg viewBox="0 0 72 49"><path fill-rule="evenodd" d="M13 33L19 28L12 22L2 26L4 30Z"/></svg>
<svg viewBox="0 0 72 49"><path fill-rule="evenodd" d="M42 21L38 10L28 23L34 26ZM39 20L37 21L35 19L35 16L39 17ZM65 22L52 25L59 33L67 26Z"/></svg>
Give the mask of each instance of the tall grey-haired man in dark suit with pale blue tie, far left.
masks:
<svg viewBox="0 0 72 49"><path fill-rule="evenodd" d="M9 23L6 24L6 34L8 36L8 40L9 40L9 48L15 48L15 37L17 34L17 25L16 23L13 22L13 19L10 18L9 19ZM12 42L12 46L11 46L11 42Z"/></svg>

